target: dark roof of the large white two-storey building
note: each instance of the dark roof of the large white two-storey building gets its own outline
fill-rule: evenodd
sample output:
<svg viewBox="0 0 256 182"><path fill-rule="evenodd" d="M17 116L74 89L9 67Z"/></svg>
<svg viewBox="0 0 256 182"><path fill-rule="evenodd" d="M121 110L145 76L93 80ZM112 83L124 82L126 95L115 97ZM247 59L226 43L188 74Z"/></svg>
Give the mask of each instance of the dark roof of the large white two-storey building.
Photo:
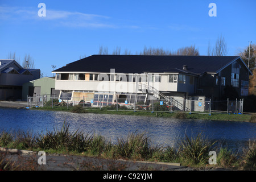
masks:
<svg viewBox="0 0 256 182"><path fill-rule="evenodd" d="M147 55L92 55L69 63L53 72L184 72L201 74L217 72L239 56L147 56ZM241 60L242 61L242 60Z"/></svg>

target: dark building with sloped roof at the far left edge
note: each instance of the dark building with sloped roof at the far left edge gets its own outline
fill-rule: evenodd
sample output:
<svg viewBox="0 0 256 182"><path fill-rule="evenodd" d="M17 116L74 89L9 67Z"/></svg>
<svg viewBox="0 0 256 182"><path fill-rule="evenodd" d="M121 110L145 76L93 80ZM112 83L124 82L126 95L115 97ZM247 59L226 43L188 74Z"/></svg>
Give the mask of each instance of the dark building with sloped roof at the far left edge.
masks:
<svg viewBox="0 0 256 182"><path fill-rule="evenodd" d="M40 69L25 69L13 59L0 60L0 100L21 100L22 85L40 78Z"/></svg>

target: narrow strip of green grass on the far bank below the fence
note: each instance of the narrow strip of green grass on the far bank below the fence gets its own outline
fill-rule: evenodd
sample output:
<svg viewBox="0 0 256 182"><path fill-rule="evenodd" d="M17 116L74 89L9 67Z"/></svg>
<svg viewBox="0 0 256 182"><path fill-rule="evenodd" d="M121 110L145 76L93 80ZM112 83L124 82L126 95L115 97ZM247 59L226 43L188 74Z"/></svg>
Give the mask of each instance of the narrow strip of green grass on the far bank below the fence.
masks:
<svg viewBox="0 0 256 182"><path fill-rule="evenodd" d="M45 106L45 107L31 107L31 109L40 110L52 110L52 111L69 111L73 113L97 113L97 114L118 114L118 115L139 115L146 117L164 117L164 118L180 118L180 119L207 119L207 120L218 120L218 121L242 121L242 122L256 122L256 114L227 114L227 113L183 113L183 112L173 112L168 111L148 111L148 110L131 110L125 107L116 108L113 107L85 107L82 106Z"/></svg>

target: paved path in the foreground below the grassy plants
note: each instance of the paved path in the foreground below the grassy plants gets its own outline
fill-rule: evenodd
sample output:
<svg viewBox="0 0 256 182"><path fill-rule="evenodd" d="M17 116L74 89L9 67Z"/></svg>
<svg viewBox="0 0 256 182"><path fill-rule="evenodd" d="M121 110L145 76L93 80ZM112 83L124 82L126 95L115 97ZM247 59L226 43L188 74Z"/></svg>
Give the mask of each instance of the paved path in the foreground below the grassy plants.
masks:
<svg viewBox="0 0 256 182"><path fill-rule="evenodd" d="M36 152L6 149L0 147L5 160L22 170L30 168L36 171L144 171L175 170L185 168L179 163L134 162L127 160L109 160L86 156L48 155L40 156ZM44 164L43 161L46 161ZM0 160L1 161L1 160Z"/></svg>

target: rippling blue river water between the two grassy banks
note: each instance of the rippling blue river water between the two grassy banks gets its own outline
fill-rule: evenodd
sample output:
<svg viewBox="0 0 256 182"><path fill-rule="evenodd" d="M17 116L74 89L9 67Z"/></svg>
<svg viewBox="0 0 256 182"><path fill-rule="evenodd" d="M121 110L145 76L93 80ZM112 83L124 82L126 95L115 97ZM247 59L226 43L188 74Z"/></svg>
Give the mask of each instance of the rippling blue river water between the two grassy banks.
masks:
<svg viewBox="0 0 256 182"><path fill-rule="evenodd" d="M147 132L153 144L175 145L184 138L203 133L210 140L222 141L225 146L240 149L251 139L256 139L256 123L230 121L200 121L190 119L138 117L113 114L75 114L42 110L0 109L0 128L32 130L45 133L46 130L61 128L63 122L70 123L70 130L79 129L103 135L115 142L129 133Z"/></svg>

